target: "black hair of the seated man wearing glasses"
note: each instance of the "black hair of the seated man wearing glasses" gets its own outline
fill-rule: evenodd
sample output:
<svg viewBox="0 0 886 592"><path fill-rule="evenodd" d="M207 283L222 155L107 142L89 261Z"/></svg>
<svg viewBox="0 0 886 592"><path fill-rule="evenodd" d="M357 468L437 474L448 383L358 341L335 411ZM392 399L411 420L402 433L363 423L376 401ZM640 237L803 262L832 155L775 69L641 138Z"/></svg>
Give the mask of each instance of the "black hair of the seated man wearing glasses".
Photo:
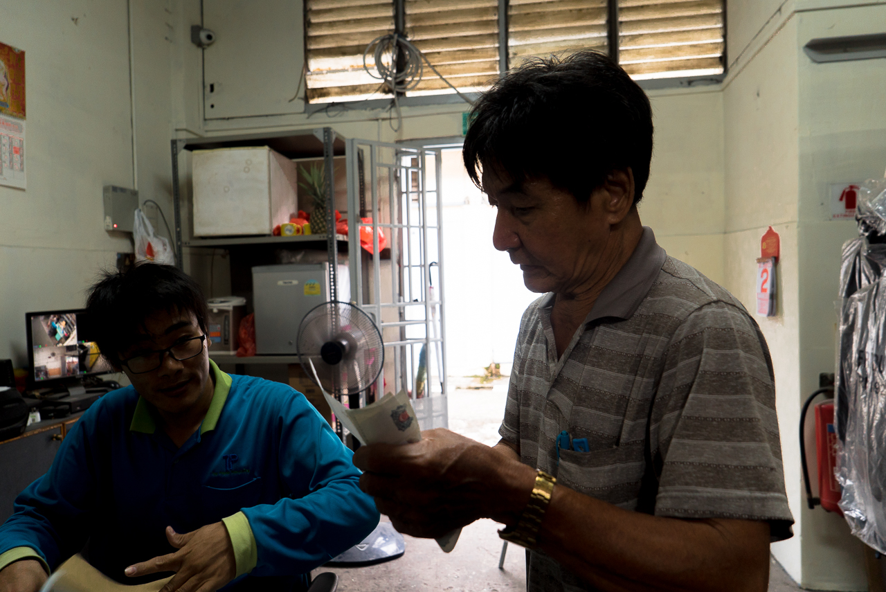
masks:
<svg viewBox="0 0 886 592"><path fill-rule="evenodd" d="M99 351L120 368L120 352L144 331L144 321L159 311L192 312L206 331L209 310L192 277L172 265L141 263L105 271L89 288L86 314Z"/></svg>

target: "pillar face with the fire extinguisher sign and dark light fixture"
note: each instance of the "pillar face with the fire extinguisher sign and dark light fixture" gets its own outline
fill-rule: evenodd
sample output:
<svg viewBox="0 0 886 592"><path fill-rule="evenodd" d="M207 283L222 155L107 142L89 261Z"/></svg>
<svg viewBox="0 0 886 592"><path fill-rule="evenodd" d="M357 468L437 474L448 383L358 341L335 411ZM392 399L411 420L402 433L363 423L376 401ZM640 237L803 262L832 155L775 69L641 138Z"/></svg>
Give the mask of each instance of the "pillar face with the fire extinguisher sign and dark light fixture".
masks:
<svg viewBox="0 0 886 592"><path fill-rule="evenodd" d="M886 167L884 60L815 64L802 53L810 39L882 33L886 5L799 12L798 290L801 393L834 371L837 273L843 241L858 235L852 221L831 221L829 185L883 175ZM800 510L804 582L819 588L865 589L861 543L842 518ZM840 588L838 588L840 587Z"/></svg>

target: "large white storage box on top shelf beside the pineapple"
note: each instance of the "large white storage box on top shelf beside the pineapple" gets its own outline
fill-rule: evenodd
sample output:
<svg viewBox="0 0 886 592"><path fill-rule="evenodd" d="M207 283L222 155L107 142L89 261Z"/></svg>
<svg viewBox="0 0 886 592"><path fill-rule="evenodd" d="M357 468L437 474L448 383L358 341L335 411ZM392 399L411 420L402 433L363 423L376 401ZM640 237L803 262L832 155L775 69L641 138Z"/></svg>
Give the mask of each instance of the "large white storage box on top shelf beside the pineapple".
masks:
<svg viewBox="0 0 886 592"><path fill-rule="evenodd" d="M267 146L193 152L194 235L271 234L298 208L298 172Z"/></svg>

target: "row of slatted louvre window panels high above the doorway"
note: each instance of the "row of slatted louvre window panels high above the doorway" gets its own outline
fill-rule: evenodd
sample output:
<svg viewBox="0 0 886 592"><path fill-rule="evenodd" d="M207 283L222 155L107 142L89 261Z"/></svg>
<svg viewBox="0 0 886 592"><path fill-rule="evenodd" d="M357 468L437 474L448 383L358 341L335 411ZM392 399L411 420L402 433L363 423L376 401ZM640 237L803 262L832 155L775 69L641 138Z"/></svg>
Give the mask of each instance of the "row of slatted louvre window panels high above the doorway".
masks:
<svg viewBox="0 0 886 592"><path fill-rule="evenodd" d="M617 1L618 61L634 79L723 73L723 0ZM393 32L394 4L306 0L308 102L391 96L363 69L363 51L377 37ZM507 4L510 67L532 56L609 49L607 0ZM498 76L498 0L405 0L404 12L408 40L458 90L486 90ZM375 71L373 60L370 53L366 63ZM407 94L451 92L425 65L422 82Z"/></svg>

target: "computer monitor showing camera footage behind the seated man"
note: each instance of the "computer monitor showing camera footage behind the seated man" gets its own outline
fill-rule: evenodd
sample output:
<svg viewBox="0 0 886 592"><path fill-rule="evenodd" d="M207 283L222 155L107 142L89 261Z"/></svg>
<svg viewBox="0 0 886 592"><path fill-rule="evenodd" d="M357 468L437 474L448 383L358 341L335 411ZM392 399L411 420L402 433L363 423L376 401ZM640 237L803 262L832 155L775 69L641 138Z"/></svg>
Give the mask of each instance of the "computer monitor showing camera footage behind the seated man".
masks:
<svg viewBox="0 0 886 592"><path fill-rule="evenodd" d="M115 371L92 340L82 308L27 313L25 322L28 389L80 391L82 378Z"/></svg>

